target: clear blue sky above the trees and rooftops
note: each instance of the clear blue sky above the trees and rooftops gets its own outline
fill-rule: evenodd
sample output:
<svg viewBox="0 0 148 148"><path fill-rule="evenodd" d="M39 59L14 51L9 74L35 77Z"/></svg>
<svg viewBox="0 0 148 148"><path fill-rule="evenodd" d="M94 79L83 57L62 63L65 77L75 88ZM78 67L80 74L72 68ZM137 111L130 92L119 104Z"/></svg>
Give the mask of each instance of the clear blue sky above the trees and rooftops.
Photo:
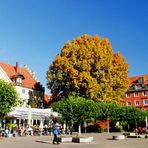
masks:
<svg viewBox="0 0 148 148"><path fill-rule="evenodd" d="M148 74L147 0L0 0L0 62L27 64L44 86L65 42L83 34L108 38L129 76Z"/></svg>

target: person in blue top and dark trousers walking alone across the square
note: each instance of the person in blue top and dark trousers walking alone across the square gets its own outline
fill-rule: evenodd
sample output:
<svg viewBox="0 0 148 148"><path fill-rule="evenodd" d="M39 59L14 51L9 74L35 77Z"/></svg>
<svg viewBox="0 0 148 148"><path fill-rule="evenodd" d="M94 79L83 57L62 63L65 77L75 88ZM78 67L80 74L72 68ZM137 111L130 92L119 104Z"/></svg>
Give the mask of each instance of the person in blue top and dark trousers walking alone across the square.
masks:
<svg viewBox="0 0 148 148"><path fill-rule="evenodd" d="M59 134L59 125L58 123L55 123L54 126L53 126L53 144L59 144L59 141L58 141L58 134Z"/></svg>

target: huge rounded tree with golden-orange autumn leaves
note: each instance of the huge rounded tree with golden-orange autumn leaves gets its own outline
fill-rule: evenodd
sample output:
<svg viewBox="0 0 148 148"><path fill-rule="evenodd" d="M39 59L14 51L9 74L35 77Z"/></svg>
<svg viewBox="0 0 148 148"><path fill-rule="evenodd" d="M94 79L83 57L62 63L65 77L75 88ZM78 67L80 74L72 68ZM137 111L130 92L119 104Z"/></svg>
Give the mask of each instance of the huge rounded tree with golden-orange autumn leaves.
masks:
<svg viewBox="0 0 148 148"><path fill-rule="evenodd" d="M47 71L53 101L75 93L94 101L121 102L128 87L128 63L108 39L83 35L68 41Z"/></svg>

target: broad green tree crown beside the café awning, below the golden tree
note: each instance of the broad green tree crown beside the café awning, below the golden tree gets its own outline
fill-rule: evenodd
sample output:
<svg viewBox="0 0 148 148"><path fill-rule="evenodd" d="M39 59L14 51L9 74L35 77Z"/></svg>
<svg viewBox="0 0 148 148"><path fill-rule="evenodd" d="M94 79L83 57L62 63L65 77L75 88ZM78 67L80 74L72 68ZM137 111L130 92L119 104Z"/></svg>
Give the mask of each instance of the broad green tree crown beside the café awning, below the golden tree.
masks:
<svg viewBox="0 0 148 148"><path fill-rule="evenodd" d="M53 110L62 115L66 123L78 123L95 121L98 115L97 103L78 96L69 96L51 105Z"/></svg>

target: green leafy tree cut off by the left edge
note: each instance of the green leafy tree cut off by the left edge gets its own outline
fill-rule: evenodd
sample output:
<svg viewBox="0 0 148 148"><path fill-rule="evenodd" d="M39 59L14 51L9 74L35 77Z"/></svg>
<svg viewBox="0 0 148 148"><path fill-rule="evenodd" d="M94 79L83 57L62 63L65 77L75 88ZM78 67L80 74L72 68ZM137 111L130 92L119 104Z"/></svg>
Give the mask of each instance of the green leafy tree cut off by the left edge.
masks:
<svg viewBox="0 0 148 148"><path fill-rule="evenodd" d="M17 93L13 85L0 79L0 116L9 113L17 101Z"/></svg>

